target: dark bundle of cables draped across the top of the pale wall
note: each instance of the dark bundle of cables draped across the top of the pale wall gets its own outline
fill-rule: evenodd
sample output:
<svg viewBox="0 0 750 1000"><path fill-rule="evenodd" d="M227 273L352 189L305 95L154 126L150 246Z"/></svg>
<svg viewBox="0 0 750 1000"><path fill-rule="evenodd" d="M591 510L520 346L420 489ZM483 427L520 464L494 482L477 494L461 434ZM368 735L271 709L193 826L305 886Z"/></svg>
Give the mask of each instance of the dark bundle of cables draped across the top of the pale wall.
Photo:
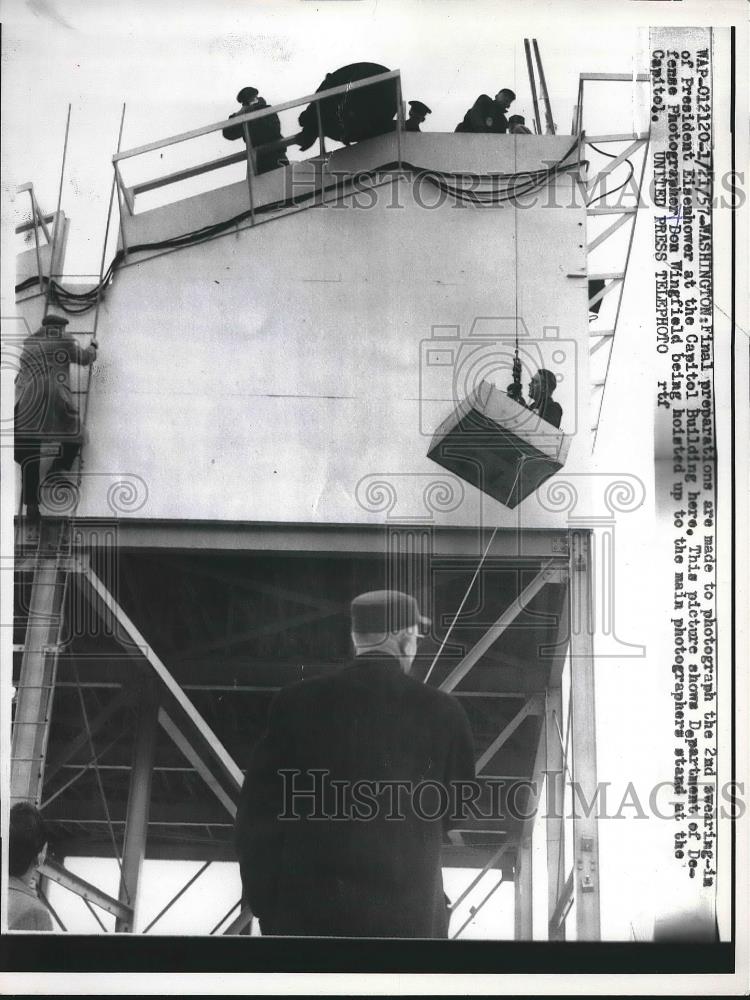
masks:
<svg viewBox="0 0 750 1000"><path fill-rule="evenodd" d="M375 167L373 170L362 171L357 174L348 175L345 183L348 186L361 184L366 180L380 180L383 174L395 174L397 177L407 176L414 180L425 180L434 184L440 191L455 198L457 202L472 204L484 207L498 207L502 205L514 205L518 199L540 190L546 184L554 180L560 174L580 169L585 161L580 159L581 138L577 137L575 142L558 161L549 167L540 167L537 170L522 170L517 173L488 173L488 174L465 174L450 173L441 170L434 170L428 167L415 166L411 163L390 162ZM575 159L570 160L573 153L577 153ZM570 162L567 162L569 161ZM464 186L463 181L469 179L469 186ZM268 215L273 212L280 212L287 208L295 208L298 205L319 197L321 194L332 190L338 190L340 180L333 184L322 185L296 197L282 198L269 202L255 208L254 214ZM480 185L480 186L478 186ZM489 186L487 186L489 185ZM224 219L221 222L211 223L200 229L183 233L180 236L173 236L166 240L157 240L153 243L137 243L128 247L127 254L124 249L117 251L112 258L109 267L102 275L100 282L93 288L85 292L74 292L66 288L54 278L46 275L31 275L24 281L16 285L16 293L24 292L40 280L46 287L49 298L68 315L80 315L95 308L97 301L104 295L106 289L114 278L115 272L124 263L126 256L130 257L134 253L144 253L147 251L178 250L183 247L196 246L208 240L222 235L229 229L247 221L251 218L251 209Z"/></svg>

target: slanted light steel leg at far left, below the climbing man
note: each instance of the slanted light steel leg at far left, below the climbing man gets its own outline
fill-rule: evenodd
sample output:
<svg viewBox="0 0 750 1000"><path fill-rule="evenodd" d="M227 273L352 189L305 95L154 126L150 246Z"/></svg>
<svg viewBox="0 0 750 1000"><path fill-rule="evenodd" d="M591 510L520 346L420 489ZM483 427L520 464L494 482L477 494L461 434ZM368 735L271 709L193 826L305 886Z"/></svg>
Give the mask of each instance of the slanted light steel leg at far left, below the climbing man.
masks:
<svg viewBox="0 0 750 1000"><path fill-rule="evenodd" d="M39 805L41 798L65 573L54 556L40 559L34 570L13 720L11 804Z"/></svg>

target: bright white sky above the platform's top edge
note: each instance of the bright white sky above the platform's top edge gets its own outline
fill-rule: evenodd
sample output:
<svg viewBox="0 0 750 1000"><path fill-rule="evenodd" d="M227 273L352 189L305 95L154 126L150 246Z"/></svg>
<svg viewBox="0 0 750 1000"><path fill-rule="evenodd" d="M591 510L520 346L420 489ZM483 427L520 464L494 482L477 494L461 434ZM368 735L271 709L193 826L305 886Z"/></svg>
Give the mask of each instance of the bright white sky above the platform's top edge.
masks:
<svg viewBox="0 0 750 1000"><path fill-rule="evenodd" d="M70 102L66 270L97 273L123 103L127 149L220 121L237 109L241 86L280 103L311 93L339 66L369 61L401 70L404 99L433 110L431 131L452 132L478 94L501 86L516 91L512 110L530 121L526 36L539 42L550 103L568 132L579 72L629 72L642 48L635 26L612 35L603 6L588 7L582 31L578 19L552 20L550 6L539 3L524 3L521 14L519 6L466 0L6 0L4 193L12 201L15 186L32 180L52 210ZM226 152L220 136L215 142ZM20 210L28 211L28 195Z"/></svg>

